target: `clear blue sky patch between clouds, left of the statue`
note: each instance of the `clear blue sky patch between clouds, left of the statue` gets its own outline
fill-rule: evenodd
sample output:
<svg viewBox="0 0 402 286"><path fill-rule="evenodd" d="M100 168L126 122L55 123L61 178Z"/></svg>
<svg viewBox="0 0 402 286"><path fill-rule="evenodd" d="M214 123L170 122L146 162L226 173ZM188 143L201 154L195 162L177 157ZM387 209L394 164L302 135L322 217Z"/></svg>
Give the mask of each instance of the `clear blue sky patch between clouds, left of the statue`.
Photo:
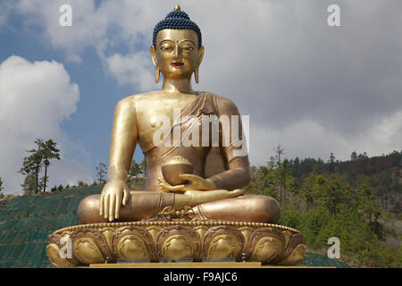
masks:
<svg viewBox="0 0 402 286"><path fill-rule="evenodd" d="M71 81L80 87L80 102L77 112L71 114L70 120L63 121L61 128L82 147L91 150L94 165L107 163L114 105L135 90L105 76L94 48L85 49L81 63L71 63L65 60L63 50L54 49L46 43L46 38L41 35L43 28L26 25L24 16L12 13L8 25L0 30L0 62L11 55L20 55L30 62L54 60L63 63ZM124 45L119 50L124 54L128 52ZM141 159L141 154L136 157Z"/></svg>

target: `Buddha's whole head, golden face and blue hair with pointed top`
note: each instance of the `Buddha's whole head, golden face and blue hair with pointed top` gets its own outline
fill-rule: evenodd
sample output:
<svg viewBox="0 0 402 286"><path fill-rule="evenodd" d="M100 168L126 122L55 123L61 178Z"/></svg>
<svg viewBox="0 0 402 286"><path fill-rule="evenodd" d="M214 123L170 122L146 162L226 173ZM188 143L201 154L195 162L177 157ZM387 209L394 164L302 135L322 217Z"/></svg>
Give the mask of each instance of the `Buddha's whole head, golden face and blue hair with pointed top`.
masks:
<svg viewBox="0 0 402 286"><path fill-rule="evenodd" d="M155 81L159 74L163 79L190 79L194 71L198 83L198 67L203 59L201 31L188 14L176 5L174 11L158 22L154 29L151 46L152 62L155 65Z"/></svg>

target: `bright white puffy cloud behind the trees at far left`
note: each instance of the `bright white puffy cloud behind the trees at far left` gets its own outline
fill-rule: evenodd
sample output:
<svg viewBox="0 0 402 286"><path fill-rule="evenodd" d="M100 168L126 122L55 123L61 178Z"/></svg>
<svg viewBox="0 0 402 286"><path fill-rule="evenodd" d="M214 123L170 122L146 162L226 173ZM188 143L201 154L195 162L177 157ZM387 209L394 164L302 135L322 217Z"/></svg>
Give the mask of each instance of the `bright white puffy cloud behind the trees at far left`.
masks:
<svg viewBox="0 0 402 286"><path fill-rule="evenodd" d="M49 168L50 186L92 180L90 168L66 158L69 152L78 152L85 162L88 153L60 128L79 100L79 87L61 63L30 63L15 55L0 63L0 177L5 193L21 192L23 176L17 171L28 155L25 150L35 147L38 138L54 139L62 150L60 162L52 161Z"/></svg>

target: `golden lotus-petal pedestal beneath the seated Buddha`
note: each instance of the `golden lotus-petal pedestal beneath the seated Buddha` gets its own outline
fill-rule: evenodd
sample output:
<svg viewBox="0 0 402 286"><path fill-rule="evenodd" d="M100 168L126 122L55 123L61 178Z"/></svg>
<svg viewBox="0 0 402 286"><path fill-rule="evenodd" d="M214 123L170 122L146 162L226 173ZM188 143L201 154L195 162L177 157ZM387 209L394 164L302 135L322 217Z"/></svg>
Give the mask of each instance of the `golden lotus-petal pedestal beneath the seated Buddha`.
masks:
<svg viewBox="0 0 402 286"><path fill-rule="evenodd" d="M160 258L235 257L264 265L298 265L306 245L295 229L272 223L140 221L80 224L49 235L47 256L55 267Z"/></svg>

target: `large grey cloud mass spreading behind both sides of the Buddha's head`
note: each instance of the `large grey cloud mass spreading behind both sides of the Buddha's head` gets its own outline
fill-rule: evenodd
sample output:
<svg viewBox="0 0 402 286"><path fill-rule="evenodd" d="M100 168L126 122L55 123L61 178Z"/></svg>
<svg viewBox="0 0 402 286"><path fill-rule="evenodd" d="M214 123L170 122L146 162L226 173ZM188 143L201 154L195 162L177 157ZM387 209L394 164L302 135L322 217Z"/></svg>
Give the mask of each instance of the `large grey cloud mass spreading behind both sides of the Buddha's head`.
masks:
<svg viewBox="0 0 402 286"><path fill-rule="evenodd" d="M398 149L401 4L387 2L339 2L336 28L326 22L333 1L181 4L203 32L205 57L196 88L230 97L242 114L250 114L258 122L258 132L250 130L250 151L267 158L278 143L288 156L300 157L334 152L348 158L353 150L375 156ZM72 6L71 28L58 25L61 4ZM43 37L68 59L79 63L84 50L95 48L107 74L141 92L155 87L144 46L174 4L21 0L18 10L41 22ZM129 46L128 54L119 52L121 44ZM253 147L259 140L264 144ZM260 164L257 157L251 156L253 164Z"/></svg>

